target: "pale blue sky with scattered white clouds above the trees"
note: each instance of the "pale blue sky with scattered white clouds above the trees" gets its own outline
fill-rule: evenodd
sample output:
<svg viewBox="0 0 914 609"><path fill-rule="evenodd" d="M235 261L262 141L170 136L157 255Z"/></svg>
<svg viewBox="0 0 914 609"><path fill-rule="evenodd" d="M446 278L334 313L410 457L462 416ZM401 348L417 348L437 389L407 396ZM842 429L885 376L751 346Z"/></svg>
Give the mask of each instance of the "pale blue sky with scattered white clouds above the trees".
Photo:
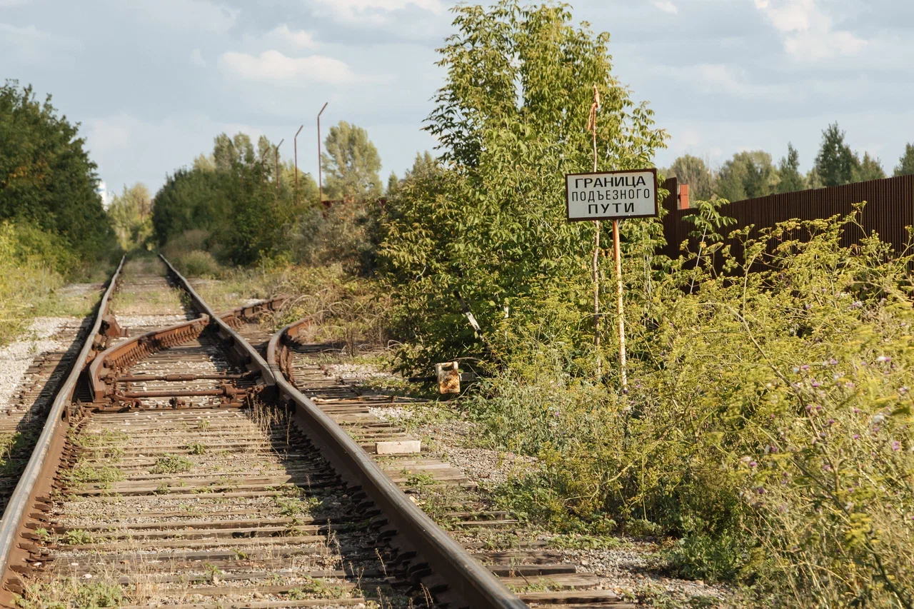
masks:
<svg viewBox="0 0 914 609"><path fill-rule="evenodd" d="M50 92L82 123L109 189L208 151L220 132L285 138L316 171L314 118L366 127L402 174L434 142L420 131L441 84L435 48L452 0L0 0L0 78ZM838 121L890 171L914 142L914 2L576 0L611 32L617 77L649 100L685 152L739 150L804 169Z"/></svg>

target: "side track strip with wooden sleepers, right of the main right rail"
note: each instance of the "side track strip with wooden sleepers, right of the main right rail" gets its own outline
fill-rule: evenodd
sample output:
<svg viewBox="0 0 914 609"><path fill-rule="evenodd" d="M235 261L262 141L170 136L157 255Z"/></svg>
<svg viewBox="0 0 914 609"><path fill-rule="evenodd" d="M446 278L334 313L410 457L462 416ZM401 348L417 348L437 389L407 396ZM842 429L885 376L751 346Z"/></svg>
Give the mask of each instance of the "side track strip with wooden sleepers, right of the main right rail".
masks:
<svg viewBox="0 0 914 609"><path fill-rule="evenodd" d="M302 340L309 322L284 327L272 339L268 361L286 382L301 391L315 407L350 433L396 480L420 501L452 536L518 596L533 607L563 609L633 608L606 589L606 578L576 564L569 553L546 541L526 538L523 526L510 513L491 507L462 471L446 459L429 454L382 454L373 446L417 442L402 428L372 413L409 401L395 395L360 390L355 382L325 373L320 358L334 345ZM377 411L377 410L376 410Z"/></svg>

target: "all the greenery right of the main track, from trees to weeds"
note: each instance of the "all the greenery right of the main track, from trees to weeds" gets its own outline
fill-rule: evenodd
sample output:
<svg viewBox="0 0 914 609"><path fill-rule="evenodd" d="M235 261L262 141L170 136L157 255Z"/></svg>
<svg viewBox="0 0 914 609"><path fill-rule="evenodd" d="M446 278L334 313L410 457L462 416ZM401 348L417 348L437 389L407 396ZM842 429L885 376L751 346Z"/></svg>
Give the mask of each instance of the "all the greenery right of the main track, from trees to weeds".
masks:
<svg viewBox="0 0 914 609"><path fill-rule="evenodd" d="M607 366L618 354L614 314L602 318L601 347L593 342L594 226L565 221L562 176L590 169L594 85L600 168L650 166L665 134L613 78L608 35L575 26L568 7L503 0L455 15L428 120L438 159L392 176L383 204L290 208L290 181L276 194L250 142L225 137L156 197L166 255L224 280L201 284L207 299L292 294L275 321L310 317L308 340L355 353L393 339L402 371L459 359L483 373L456 402L480 441L538 457L494 496L558 533L556 547L664 536L679 574L745 584L758 604L911 606L910 251L876 236L842 245L856 214L749 239L717 198L697 201L696 245L670 260L655 253L657 219L626 220L621 390ZM836 125L825 148L834 154L821 155L815 179L845 180ZM802 187L811 178L798 163L792 147L778 169L745 153L718 184L734 197ZM876 170L866 157L850 167ZM712 198L715 184L705 187ZM267 229L226 232L224 219L261 213ZM739 252L724 245L733 230ZM607 253L603 294L615 282ZM410 486L430 510L449 509L427 480Z"/></svg>

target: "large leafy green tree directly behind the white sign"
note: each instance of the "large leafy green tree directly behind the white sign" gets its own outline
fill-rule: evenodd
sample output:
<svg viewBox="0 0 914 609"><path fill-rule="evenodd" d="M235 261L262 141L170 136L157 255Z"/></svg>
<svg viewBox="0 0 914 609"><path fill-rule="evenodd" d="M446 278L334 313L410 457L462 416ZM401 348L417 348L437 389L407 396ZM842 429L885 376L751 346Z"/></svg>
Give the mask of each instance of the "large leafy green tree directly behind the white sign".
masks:
<svg viewBox="0 0 914 609"><path fill-rule="evenodd" d="M593 288L582 261L593 225L567 222L561 201L564 174L592 167L594 85L600 168L650 166L665 134L612 76L609 35L576 27L566 5L502 0L454 11L456 33L439 51L447 80L426 127L443 163L403 181L382 227L379 262L410 342L402 363L504 355L535 327L569 358L592 354Z"/></svg>

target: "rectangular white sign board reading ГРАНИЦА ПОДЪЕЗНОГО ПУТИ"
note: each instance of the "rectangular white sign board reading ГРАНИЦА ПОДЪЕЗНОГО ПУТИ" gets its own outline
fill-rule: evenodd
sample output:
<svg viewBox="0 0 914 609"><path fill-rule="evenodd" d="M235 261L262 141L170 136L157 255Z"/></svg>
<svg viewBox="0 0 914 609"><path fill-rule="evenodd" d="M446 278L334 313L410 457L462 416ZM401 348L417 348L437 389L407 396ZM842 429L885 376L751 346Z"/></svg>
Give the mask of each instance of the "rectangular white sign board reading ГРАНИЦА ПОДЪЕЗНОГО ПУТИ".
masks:
<svg viewBox="0 0 914 609"><path fill-rule="evenodd" d="M571 222L657 215L657 170L566 174L565 206Z"/></svg>

